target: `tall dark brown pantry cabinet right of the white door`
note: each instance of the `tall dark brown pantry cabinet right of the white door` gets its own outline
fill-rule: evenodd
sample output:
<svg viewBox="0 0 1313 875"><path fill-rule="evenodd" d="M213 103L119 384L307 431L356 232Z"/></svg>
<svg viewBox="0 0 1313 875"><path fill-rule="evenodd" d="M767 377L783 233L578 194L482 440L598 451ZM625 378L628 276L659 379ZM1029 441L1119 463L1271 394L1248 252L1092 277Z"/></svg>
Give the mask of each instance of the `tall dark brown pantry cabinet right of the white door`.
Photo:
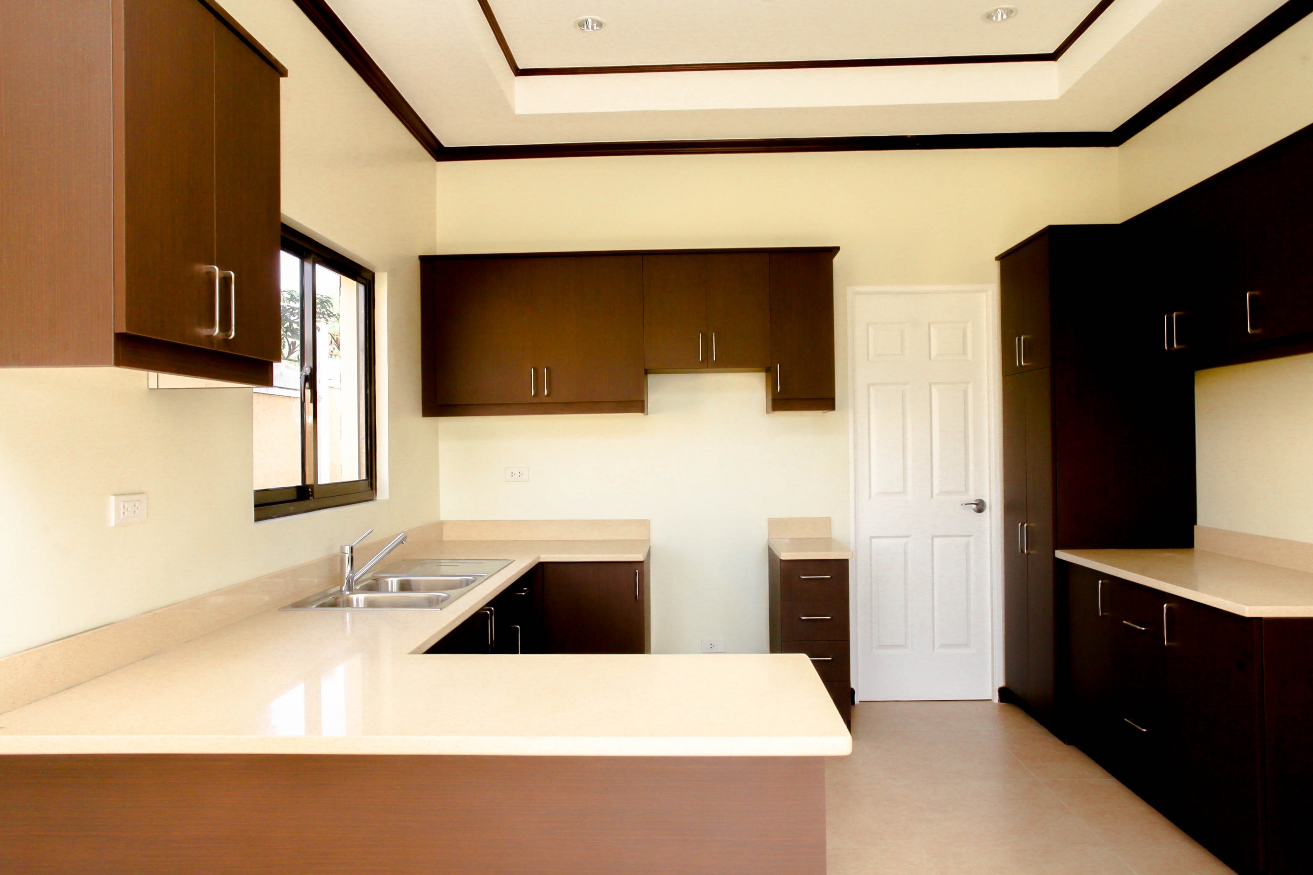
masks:
<svg viewBox="0 0 1313 875"><path fill-rule="evenodd" d="M1006 701L1064 736L1054 550L1190 547L1194 373L1157 354L1117 226L1050 226L998 257Z"/></svg>

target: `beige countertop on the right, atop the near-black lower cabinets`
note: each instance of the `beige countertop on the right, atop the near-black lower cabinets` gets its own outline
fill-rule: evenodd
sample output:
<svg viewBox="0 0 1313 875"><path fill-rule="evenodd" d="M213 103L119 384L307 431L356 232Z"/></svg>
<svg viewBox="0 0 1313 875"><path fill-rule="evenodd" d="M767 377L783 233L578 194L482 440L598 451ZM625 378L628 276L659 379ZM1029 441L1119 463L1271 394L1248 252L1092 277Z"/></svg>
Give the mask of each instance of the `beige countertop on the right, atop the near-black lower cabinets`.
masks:
<svg viewBox="0 0 1313 875"><path fill-rule="evenodd" d="M1313 573L1205 550L1058 550L1085 565L1241 617L1313 617Z"/></svg>

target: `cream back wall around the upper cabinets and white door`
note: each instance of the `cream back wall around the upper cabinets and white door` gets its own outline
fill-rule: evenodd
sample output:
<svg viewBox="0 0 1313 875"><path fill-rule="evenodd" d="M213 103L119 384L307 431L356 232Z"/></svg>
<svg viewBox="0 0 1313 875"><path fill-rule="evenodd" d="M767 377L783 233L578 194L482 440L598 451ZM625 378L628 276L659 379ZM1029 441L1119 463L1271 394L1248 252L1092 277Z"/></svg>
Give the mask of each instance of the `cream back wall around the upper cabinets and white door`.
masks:
<svg viewBox="0 0 1313 875"><path fill-rule="evenodd" d="M767 415L764 374L676 374L649 376L649 416L440 420L444 517L649 518L654 649L751 652L767 517L848 538L844 289L997 282L994 256L1045 224L1116 220L1116 151L450 163L437 202L439 252L842 247L834 413Z"/></svg>

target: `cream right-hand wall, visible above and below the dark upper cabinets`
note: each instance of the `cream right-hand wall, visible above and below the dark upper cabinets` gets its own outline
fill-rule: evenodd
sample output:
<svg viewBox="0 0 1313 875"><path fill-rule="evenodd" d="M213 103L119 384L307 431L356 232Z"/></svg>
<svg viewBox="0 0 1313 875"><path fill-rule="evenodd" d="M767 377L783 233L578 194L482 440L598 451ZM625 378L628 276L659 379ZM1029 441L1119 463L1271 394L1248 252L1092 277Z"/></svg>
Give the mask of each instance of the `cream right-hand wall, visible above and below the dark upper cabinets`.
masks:
<svg viewBox="0 0 1313 875"><path fill-rule="evenodd" d="M1313 123L1313 17L1129 140L1121 216ZM1313 542L1313 357L1199 371L1199 525Z"/></svg>

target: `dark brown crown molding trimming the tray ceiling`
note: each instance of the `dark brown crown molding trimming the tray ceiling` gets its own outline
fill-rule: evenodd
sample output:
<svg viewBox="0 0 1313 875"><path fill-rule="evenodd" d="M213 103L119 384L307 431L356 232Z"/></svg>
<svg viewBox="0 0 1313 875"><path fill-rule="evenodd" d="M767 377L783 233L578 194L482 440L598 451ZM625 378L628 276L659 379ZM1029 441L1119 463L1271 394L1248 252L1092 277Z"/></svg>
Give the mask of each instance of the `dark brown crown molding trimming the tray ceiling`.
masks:
<svg viewBox="0 0 1313 875"><path fill-rule="evenodd" d="M402 125L419 140L437 161L484 161L495 159L527 157L590 157L616 155L712 155L750 152L848 152L848 151L894 151L894 150L953 150L953 148L1082 148L1116 147L1149 127L1169 112L1199 93L1204 87L1245 60L1287 29L1313 12L1313 0L1287 0L1280 8L1245 31L1229 46L1204 62L1199 68L1167 89L1161 97L1128 118L1112 131L1039 131L1016 134L926 134L926 135L886 135L886 136L810 136L810 138L769 138L737 140L651 140L614 143L529 143L520 146L442 146L433 131L428 129L419 113L406 101L402 93L383 75L378 64L356 41L341 20L328 7L327 0L295 0L319 31L337 49L347 63L378 94L378 98L393 110ZM1056 55L1066 51L1094 20L1112 3L1100 0L1099 5L1086 17L1067 39L1058 46ZM507 55L507 63L516 70L511 50L500 28L487 5L479 0L484 14L494 26L494 35ZM1001 56L1010 60L1029 58L1027 55ZM999 58L995 58L997 62ZM1049 58L1045 55L1044 59ZM902 59L907 63L909 59ZM911 59L920 60L920 59ZM792 62L784 62L792 63ZM800 62L802 63L802 62ZM822 64L829 62L821 62ZM843 66L844 62L832 66ZM853 62L846 62L850 66ZM863 62L865 63L865 62ZM944 59L930 59L927 63L945 63ZM973 63L973 62L961 62ZM978 62L977 62L978 63ZM616 72L617 68L599 68ZM554 75L561 70L551 70ZM519 75L525 75L519 71ZM537 73L528 73L537 75Z"/></svg>

